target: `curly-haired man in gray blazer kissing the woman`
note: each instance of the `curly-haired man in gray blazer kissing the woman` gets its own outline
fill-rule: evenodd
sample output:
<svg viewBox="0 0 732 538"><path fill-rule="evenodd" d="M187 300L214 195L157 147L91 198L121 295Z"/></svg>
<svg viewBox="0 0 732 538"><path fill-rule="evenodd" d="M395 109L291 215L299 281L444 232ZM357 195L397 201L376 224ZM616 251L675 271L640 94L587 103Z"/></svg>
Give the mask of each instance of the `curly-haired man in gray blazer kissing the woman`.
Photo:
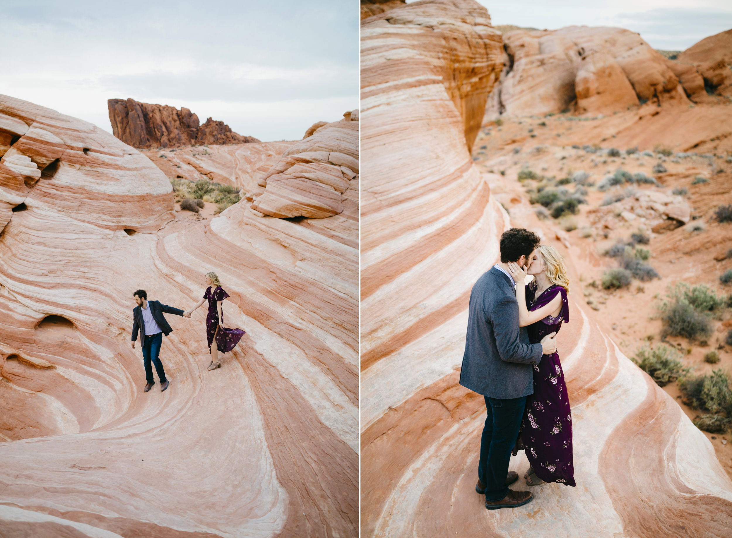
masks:
<svg viewBox="0 0 732 538"><path fill-rule="evenodd" d="M556 351L556 333L546 335L539 344L529 343L526 328L518 326L516 283L507 263L529 266L539 242L539 236L523 228L504 232L501 262L482 274L470 294L460 384L485 397L488 417L480 440L475 489L485 493L485 507L491 510L520 507L532 498L529 491L509 489L518 474L509 473L508 466L526 397L534 394L532 367L542 354Z"/></svg>

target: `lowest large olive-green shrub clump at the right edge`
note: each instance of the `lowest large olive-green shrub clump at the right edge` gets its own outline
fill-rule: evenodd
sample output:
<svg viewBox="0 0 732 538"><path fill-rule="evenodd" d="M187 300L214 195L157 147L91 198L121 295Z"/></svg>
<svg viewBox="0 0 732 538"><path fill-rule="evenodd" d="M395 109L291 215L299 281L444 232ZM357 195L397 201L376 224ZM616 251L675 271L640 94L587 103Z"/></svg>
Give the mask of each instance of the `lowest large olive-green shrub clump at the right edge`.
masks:
<svg viewBox="0 0 732 538"><path fill-rule="evenodd" d="M694 420L701 430L723 433L732 426L732 390L728 375L713 370L707 376L686 376L679 379L681 401L700 411L708 411Z"/></svg>

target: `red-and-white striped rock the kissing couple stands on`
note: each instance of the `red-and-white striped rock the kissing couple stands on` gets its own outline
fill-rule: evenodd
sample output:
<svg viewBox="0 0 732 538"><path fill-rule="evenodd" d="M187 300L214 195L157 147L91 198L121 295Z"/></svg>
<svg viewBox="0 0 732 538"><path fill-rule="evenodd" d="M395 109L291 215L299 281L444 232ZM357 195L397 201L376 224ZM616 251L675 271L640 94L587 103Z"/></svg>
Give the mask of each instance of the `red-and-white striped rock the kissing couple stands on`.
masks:
<svg viewBox="0 0 732 538"><path fill-rule="evenodd" d="M500 234L532 221L501 208L488 186L501 176L474 165L467 109L449 89L471 64L482 78L472 87L490 91L501 42L468 0L398 7L361 35L362 536L724 536L732 482L709 441L572 295L559 352L578 487L542 486L528 510L485 511L474 490L484 403L458 384L468 297ZM511 463L520 474L523 458Z"/></svg>

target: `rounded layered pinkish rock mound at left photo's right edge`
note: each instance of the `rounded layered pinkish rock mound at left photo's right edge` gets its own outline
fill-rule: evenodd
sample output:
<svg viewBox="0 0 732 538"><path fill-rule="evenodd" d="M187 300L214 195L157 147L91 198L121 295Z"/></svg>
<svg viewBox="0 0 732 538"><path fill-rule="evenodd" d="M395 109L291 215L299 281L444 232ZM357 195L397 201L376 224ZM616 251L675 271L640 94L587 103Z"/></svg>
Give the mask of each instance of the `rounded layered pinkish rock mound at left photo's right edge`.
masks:
<svg viewBox="0 0 732 538"><path fill-rule="evenodd" d="M322 219L343 212L344 193L359 173L358 111L318 124L258 180L261 189L247 195L252 209L278 218Z"/></svg>

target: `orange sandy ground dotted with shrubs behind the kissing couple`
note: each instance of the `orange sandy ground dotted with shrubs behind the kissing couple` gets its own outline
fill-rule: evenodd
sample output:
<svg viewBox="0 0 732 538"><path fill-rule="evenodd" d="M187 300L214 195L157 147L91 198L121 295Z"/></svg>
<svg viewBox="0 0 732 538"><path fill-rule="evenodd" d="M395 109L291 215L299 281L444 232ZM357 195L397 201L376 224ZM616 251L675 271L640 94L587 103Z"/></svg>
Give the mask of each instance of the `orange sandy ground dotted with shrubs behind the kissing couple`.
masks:
<svg viewBox="0 0 732 538"><path fill-rule="evenodd" d="M654 114L655 115L652 115ZM673 113L677 119L673 120ZM718 295L732 294L732 285L720 283L720 274L732 269L732 259L715 261L714 256L732 249L732 223L717 223L713 219L714 209L720 204L732 203L732 137L724 129L731 123L712 121L712 118L732 118L732 105L697 105L694 108L658 113L653 108L643 107L641 111L626 111L608 117L572 119L568 114L550 117L503 118L503 124L485 124L474 145L474 161L485 172L502 173L499 179L508 184L512 195L499 196L501 203L511 213L511 207L526 203L526 190L536 188L539 181L518 182L518 172L528 168L545 177L561 179L573 171L591 174L589 181L597 184L607 174L622 168L630 173L643 172L654 176L659 187L643 184L637 190L656 190L668 195L676 187L685 187L687 195L677 200L689 204L692 220L673 231L657 234L651 227L659 218L637 217L630 221L623 217L609 217L608 226L597 223L597 208L608 193L624 190L613 187L608 193L601 193L594 187L588 189L587 204L580 205L575 215L577 229L560 231L559 221L549 219L545 225L556 228L569 244L565 252L573 259L578 270L579 282L572 283L570 297L574 300L592 303L594 319L615 343L629 357L642 345L660 343L662 322L658 318L658 306L666 299L668 287L678 282L690 285L706 284ZM641 119L638 119L641 118ZM662 121L660 121L662 120ZM646 121L641 130L638 124ZM545 125L542 125L541 123ZM654 123L655 122L655 123ZM703 125L708 125L706 130ZM691 127L689 127L691 126ZM655 130L655 135L654 135ZM531 135L535 136L532 137ZM613 137L613 135L615 135ZM573 149L572 144L598 144L602 148L625 149L638 146L638 154L608 158L591 154L583 149ZM654 150L660 144L669 146L675 152L697 152L707 157L675 156L652 157L641 154L643 150ZM518 148L518 149L517 149ZM658 162L667 169L665 173L653 173ZM691 184L701 176L706 183ZM489 176L496 178L496 176ZM495 181L490 180L491 182ZM567 184L569 190L574 184ZM523 199L522 199L523 198ZM539 206L534 206L538 208ZM518 212L517 212L518 213ZM595 223L594 225L592 223ZM514 225L521 225L513 221ZM545 226L546 228L546 226ZM656 269L660 278L649 282L633 280L630 287L619 291L602 290L602 273L616 267L613 258L603 256L608 247L620 239L629 239L631 233L642 231L651 237L647 245L651 250L649 264ZM591 283L595 285L591 285ZM668 337L668 343L681 352L684 365L697 375L711 373L716 368L732 372L732 346L725 345L728 329L732 328L732 313L725 312L720 319L712 320L714 332L706 345L689 342L684 338ZM724 324L724 325L723 325ZM720 362L710 365L704 362L704 355L716 350ZM700 414L680 401L676 383L668 384L664 390L674 397L679 406L691 419ZM732 436L729 434L706 433L712 441L720 463L732 478Z"/></svg>

